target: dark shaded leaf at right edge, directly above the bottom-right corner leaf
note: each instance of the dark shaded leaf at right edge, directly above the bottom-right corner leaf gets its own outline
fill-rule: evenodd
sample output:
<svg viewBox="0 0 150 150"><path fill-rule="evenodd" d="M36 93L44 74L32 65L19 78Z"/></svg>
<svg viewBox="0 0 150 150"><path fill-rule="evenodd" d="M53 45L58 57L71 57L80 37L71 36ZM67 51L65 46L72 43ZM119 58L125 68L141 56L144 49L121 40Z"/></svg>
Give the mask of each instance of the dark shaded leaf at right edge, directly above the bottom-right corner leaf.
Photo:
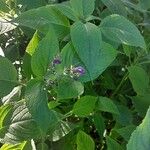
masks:
<svg viewBox="0 0 150 150"><path fill-rule="evenodd" d="M142 117L144 117L146 115L147 109L150 106L149 97L150 97L150 94L144 94L142 96L138 95L138 96L131 97L136 111Z"/></svg>

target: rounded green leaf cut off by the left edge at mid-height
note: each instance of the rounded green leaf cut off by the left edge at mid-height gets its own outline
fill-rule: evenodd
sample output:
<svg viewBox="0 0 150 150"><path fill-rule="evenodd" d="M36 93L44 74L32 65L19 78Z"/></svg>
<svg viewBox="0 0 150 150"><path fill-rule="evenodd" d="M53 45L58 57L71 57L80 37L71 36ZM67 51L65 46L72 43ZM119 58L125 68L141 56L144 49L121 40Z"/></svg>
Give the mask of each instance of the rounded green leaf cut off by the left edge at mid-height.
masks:
<svg viewBox="0 0 150 150"><path fill-rule="evenodd" d="M0 98L9 94L18 85L17 71L12 63L0 56Z"/></svg>

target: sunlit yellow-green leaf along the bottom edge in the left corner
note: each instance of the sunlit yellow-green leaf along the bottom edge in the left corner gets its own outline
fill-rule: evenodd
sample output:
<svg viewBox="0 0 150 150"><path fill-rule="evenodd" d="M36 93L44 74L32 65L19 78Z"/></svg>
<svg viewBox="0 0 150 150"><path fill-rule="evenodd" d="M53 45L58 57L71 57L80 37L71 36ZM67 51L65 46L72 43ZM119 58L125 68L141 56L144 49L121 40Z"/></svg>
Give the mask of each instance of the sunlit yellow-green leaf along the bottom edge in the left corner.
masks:
<svg viewBox="0 0 150 150"><path fill-rule="evenodd" d="M20 144L4 144L0 150L32 150L29 142L22 142Z"/></svg>

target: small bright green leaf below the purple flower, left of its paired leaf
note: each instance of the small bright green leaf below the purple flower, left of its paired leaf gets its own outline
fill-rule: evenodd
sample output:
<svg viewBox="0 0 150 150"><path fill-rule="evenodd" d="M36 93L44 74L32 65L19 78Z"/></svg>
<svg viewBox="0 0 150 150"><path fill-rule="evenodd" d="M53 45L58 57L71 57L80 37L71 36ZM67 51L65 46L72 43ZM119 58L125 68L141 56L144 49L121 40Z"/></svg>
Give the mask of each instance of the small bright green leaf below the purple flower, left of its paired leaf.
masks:
<svg viewBox="0 0 150 150"><path fill-rule="evenodd" d="M90 115L95 109L95 103L97 97L94 96L84 96L77 100L73 106L73 113L79 117L86 117Z"/></svg>

